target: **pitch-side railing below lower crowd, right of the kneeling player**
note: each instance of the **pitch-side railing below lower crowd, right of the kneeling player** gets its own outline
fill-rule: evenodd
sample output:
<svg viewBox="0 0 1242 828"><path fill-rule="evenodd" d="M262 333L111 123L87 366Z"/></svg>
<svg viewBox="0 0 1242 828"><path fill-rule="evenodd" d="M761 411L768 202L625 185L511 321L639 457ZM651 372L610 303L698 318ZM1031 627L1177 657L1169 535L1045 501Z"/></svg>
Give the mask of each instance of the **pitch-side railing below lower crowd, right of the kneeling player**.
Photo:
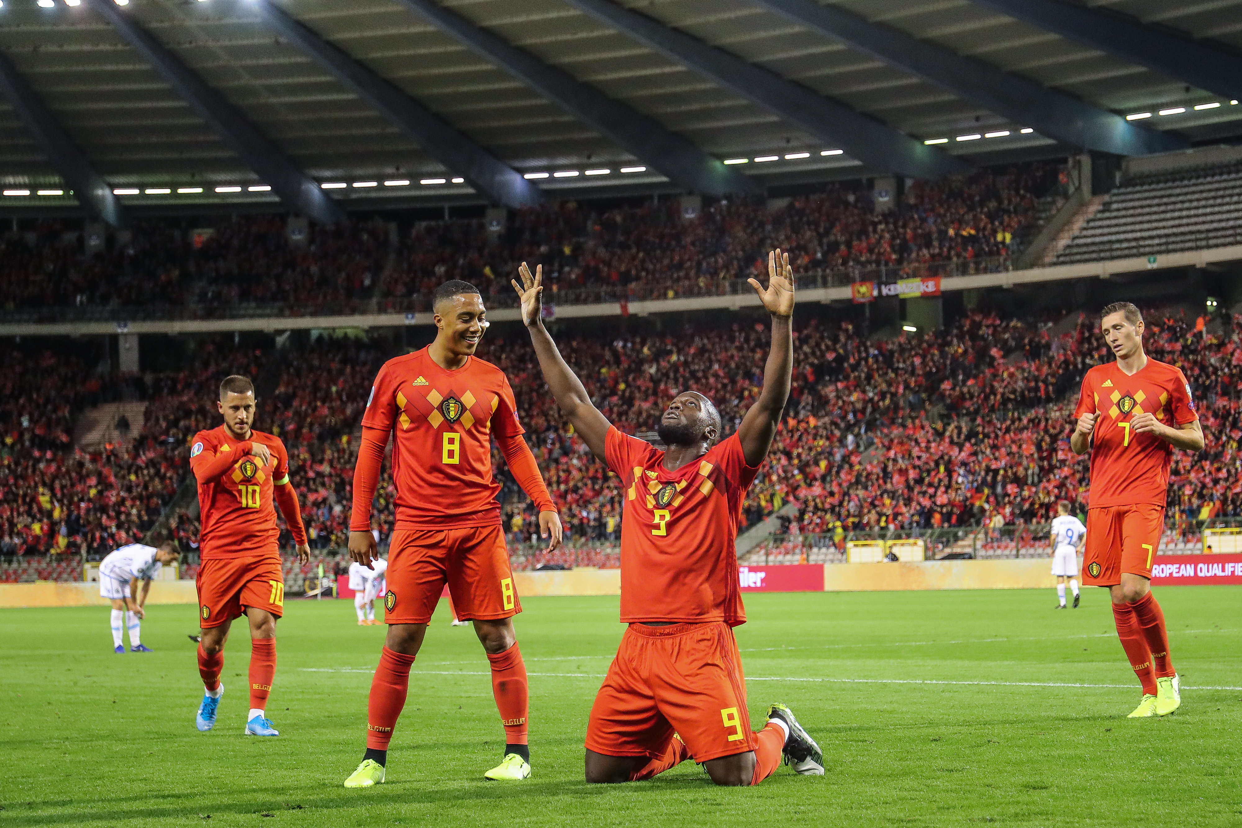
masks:
<svg viewBox="0 0 1242 828"><path fill-rule="evenodd" d="M1203 550L1205 529L1242 529L1242 518L1179 520L1169 518L1160 540L1161 555L1194 555ZM922 540L927 560L1048 557L1051 524L1005 526L940 526L938 529L873 529L862 531L773 535L741 562L746 565L845 564L851 541Z"/></svg>

